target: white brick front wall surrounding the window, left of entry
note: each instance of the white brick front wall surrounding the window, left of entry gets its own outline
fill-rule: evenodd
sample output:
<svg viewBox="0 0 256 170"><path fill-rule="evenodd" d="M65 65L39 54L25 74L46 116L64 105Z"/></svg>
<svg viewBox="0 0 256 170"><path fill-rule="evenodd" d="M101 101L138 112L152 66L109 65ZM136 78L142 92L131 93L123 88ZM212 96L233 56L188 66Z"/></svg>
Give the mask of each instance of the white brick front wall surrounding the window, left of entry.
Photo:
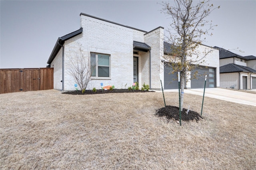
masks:
<svg viewBox="0 0 256 170"><path fill-rule="evenodd" d="M65 42L64 90L74 90L75 81L66 68L67 55L75 55L74 51L78 51L79 45L85 54L96 52L110 55L111 77L92 77L87 89L100 89L100 83L109 83L117 89L124 88L126 83L126 88L132 86L133 41L143 42L144 32L84 15L80 16L80 21L82 34Z"/></svg>

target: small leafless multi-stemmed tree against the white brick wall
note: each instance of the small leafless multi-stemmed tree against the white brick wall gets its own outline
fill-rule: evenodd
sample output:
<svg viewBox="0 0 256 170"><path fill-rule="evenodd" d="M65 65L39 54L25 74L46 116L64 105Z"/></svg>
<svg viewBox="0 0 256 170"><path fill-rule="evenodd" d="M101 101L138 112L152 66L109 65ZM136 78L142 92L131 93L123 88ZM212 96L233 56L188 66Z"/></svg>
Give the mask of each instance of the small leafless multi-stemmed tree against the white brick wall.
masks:
<svg viewBox="0 0 256 170"><path fill-rule="evenodd" d="M67 69L74 77L82 92L84 92L89 81L91 81L91 73L95 69L95 66L91 65L90 53L84 55L81 47L78 52L74 51L72 54L68 56L70 62L67 64Z"/></svg>

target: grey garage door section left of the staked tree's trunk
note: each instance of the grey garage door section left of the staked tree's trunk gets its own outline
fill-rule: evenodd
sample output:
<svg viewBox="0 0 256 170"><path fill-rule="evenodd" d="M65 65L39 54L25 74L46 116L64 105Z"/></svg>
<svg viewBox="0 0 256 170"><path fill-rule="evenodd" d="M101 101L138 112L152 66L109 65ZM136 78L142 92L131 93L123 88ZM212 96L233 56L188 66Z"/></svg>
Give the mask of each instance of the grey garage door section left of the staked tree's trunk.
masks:
<svg viewBox="0 0 256 170"><path fill-rule="evenodd" d="M164 67L164 89L178 89L178 73L172 74L172 67Z"/></svg>

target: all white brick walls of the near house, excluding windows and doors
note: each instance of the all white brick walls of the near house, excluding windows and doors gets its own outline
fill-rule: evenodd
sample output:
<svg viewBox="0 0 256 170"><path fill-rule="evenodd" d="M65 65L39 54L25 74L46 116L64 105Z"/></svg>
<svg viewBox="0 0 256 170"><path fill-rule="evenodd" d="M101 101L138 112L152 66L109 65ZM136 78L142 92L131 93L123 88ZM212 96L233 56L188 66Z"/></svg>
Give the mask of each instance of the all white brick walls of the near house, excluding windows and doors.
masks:
<svg viewBox="0 0 256 170"><path fill-rule="evenodd" d="M151 88L160 89L160 77L164 83L164 66L161 62L164 46L164 29L157 28L145 32L120 26L111 22L80 15L82 34L75 36L64 43L64 90L74 90L76 81L68 71L70 57L76 59L82 49L84 57L89 57L90 52L110 55L110 77L92 77L87 89L100 89L100 83L114 85L115 88L132 86L133 83L133 41L145 42L151 46ZM200 49L202 48L202 49ZM209 47L200 46L199 50ZM140 87L143 83L150 84L149 77L149 52L139 51L138 56L138 81ZM219 52L214 50L206 57L206 66L216 68L217 87L219 86ZM54 65L54 88L62 89L62 50L59 51L51 66ZM160 77L159 77L160 73Z"/></svg>

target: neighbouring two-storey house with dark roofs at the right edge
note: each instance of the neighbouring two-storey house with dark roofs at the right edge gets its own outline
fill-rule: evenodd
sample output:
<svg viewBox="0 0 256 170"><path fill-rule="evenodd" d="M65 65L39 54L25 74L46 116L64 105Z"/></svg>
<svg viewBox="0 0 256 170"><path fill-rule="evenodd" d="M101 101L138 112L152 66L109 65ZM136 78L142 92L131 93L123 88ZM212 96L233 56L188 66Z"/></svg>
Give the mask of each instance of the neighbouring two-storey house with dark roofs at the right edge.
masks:
<svg viewBox="0 0 256 170"><path fill-rule="evenodd" d="M220 47L220 87L256 89L256 57L242 56Z"/></svg>

